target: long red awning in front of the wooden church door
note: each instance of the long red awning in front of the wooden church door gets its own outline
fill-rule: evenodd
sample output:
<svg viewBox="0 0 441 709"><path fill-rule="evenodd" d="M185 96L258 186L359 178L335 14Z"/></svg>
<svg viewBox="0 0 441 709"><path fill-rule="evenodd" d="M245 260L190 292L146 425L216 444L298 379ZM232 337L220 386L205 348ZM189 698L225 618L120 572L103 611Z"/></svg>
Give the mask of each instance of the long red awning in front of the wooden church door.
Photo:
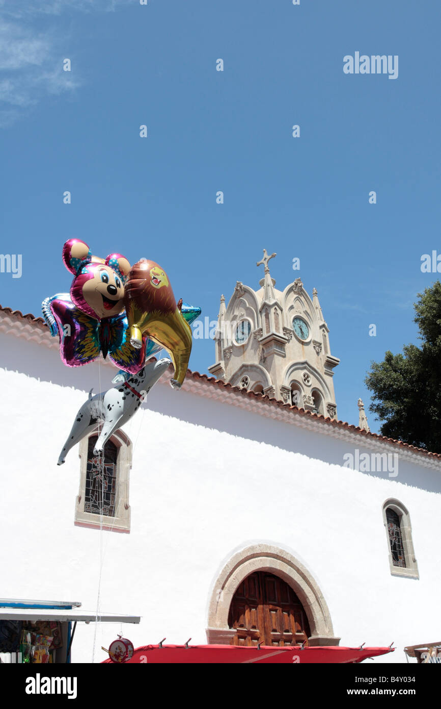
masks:
<svg viewBox="0 0 441 709"><path fill-rule="evenodd" d="M394 652L391 647L274 647L260 645L244 647L238 645L144 645L134 650L133 657L127 664L206 664L206 663L348 663L362 662L368 657L377 657ZM103 664L113 664L110 659Z"/></svg>

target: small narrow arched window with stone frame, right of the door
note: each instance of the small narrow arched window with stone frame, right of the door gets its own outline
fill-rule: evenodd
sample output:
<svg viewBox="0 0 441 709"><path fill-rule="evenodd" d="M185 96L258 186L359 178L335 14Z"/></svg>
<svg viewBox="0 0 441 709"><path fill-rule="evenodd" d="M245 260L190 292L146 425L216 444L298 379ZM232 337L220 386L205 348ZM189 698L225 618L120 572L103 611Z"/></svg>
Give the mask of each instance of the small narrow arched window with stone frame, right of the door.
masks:
<svg viewBox="0 0 441 709"><path fill-rule="evenodd" d="M383 505L383 521L386 527L391 574L418 579L418 564L413 550L408 510L398 500L386 500Z"/></svg>

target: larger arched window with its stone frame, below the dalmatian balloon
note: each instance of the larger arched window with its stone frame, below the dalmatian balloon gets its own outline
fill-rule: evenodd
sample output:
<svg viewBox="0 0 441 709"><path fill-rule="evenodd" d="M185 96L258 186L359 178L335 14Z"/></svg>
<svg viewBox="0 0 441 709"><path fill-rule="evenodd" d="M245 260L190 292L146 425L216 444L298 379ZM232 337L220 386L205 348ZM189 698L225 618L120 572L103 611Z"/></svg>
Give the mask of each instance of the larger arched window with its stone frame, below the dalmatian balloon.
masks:
<svg viewBox="0 0 441 709"><path fill-rule="evenodd" d="M130 532L129 473L132 443L118 430L105 444L101 456L93 454L98 440L94 432L80 442L80 486L76 498L75 525Z"/></svg>

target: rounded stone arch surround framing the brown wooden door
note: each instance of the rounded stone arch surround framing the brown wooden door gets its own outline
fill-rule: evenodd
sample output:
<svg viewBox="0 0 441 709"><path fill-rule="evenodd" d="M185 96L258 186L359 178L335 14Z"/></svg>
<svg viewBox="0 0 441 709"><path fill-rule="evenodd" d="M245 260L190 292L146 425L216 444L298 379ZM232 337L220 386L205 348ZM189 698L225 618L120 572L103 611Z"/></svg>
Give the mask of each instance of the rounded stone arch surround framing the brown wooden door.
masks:
<svg viewBox="0 0 441 709"><path fill-rule="evenodd" d="M233 554L214 581L206 630L210 644L234 641L237 629L229 625L231 602L242 582L256 571L277 576L292 588L306 615L310 645L338 645L340 638L334 635L328 605L314 576L285 549L268 544L252 545ZM304 623L304 632L306 629Z"/></svg>

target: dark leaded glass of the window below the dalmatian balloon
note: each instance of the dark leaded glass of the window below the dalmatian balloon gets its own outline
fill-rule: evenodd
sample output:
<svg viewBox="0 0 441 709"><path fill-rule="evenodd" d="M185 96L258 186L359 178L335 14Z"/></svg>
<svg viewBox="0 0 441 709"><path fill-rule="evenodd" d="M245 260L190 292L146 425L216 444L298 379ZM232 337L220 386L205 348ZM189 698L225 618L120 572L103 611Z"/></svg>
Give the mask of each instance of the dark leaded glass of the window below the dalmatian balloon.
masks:
<svg viewBox="0 0 441 709"><path fill-rule="evenodd" d="M104 454L93 455L98 436L88 440L84 512L115 517L116 462L118 447L108 441Z"/></svg>

